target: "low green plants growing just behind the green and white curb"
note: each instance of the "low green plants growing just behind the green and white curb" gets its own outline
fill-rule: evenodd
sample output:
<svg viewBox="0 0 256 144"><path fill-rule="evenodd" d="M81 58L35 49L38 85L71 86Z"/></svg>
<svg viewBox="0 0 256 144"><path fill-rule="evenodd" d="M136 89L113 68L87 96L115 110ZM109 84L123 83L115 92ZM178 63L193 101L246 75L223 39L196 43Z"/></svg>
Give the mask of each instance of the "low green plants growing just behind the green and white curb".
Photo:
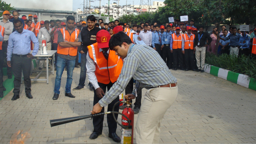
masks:
<svg viewBox="0 0 256 144"><path fill-rule="evenodd" d="M216 56L214 54L206 53L205 62L233 72L246 74L250 78L256 78L256 60L246 55L237 58L227 54Z"/></svg>

